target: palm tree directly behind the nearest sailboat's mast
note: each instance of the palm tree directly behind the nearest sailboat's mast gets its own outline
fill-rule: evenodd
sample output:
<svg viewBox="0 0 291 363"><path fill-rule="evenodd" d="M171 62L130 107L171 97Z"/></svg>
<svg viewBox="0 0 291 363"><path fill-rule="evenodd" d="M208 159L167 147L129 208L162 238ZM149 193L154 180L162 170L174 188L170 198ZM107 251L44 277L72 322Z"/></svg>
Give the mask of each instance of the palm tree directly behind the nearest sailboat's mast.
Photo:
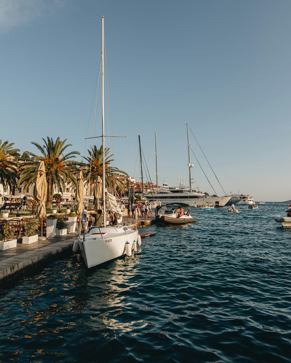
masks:
<svg viewBox="0 0 291 363"><path fill-rule="evenodd" d="M86 163L86 171L85 171L85 178L87 183L91 184L94 183L94 191L96 188L95 182L97 179L97 176L100 176L102 178L103 173L103 157L102 157L102 146L98 149L96 145L91 148L91 150L87 150L88 158L83 156L83 158L87 161ZM105 147L105 183L106 188L108 191L113 192L124 192L124 185L122 183L122 180L120 179L121 174L127 175L125 171L119 170L116 167L110 166L110 163L114 162L114 159L112 159L113 154L109 155L110 149L108 147ZM90 166L91 166L91 172L90 172ZM89 180L90 179L90 180ZM95 202L95 193L94 193L94 202Z"/></svg>

